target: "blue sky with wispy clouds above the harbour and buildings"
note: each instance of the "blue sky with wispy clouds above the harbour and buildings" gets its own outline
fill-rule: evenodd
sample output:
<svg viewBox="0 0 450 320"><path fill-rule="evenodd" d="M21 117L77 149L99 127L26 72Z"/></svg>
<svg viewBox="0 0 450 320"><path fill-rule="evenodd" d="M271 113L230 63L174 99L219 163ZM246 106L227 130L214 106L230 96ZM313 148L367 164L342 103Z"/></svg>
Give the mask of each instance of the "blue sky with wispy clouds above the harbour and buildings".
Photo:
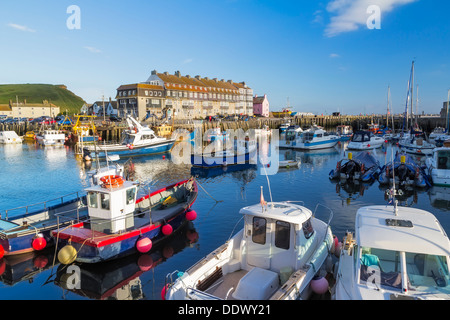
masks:
<svg viewBox="0 0 450 320"><path fill-rule="evenodd" d="M370 5L380 28L369 29ZM70 5L81 28L70 30ZM272 110L404 111L415 60L419 112L450 89L447 0L2 1L0 83L65 84L87 102L153 69L245 81ZM377 20L378 21L378 20Z"/></svg>

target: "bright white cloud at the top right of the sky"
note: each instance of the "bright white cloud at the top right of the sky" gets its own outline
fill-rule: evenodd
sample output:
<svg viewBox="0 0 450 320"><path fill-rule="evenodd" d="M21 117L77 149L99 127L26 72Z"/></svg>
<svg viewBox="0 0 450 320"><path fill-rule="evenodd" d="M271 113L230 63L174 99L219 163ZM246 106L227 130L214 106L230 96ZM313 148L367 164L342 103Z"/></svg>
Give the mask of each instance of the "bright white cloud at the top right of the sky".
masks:
<svg viewBox="0 0 450 320"><path fill-rule="evenodd" d="M325 29L325 35L334 37L344 32L358 30L360 26L366 26L371 16L367 13L370 6L378 6L383 16L396 7L415 1L417 0L332 0L327 5L327 11L333 16Z"/></svg>

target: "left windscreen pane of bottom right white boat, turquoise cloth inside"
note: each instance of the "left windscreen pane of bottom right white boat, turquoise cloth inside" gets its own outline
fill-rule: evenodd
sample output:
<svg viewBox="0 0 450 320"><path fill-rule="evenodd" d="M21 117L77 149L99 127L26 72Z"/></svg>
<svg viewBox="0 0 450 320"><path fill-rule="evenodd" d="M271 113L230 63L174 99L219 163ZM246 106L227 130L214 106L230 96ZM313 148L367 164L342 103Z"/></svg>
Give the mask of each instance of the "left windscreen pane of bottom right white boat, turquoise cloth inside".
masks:
<svg viewBox="0 0 450 320"><path fill-rule="evenodd" d="M402 289L400 252L362 248L361 281L375 288Z"/></svg>

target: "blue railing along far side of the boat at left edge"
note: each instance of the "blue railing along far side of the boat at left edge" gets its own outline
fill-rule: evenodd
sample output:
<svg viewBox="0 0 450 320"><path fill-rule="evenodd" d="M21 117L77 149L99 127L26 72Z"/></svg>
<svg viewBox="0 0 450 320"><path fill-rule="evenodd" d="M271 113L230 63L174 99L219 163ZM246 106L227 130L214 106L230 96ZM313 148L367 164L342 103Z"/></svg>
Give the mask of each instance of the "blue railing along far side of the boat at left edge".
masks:
<svg viewBox="0 0 450 320"><path fill-rule="evenodd" d="M70 199L72 198L72 199ZM16 207L12 209L6 209L0 211L0 219L9 220L10 218L18 218L21 215L27 216L29 214L39 213L43 211L49 211L55 209L64 203L69 201L75 201L81 199L79 192L72 192L61 196L59 198L46 200L43 202L34 203L27 206Z"/></svg>

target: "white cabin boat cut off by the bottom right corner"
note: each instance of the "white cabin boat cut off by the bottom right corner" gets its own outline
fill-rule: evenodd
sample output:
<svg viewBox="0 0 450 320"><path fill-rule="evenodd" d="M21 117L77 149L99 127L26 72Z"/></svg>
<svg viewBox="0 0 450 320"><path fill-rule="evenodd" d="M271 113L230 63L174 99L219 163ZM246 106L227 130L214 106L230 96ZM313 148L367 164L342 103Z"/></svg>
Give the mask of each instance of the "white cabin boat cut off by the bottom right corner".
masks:
<svg viewBox="0 0 450 320"><path fill-rule="evenodd" d="M410 207L368 206L347 232L336 300L449 300L450 241L436 217Z"/></svg>

